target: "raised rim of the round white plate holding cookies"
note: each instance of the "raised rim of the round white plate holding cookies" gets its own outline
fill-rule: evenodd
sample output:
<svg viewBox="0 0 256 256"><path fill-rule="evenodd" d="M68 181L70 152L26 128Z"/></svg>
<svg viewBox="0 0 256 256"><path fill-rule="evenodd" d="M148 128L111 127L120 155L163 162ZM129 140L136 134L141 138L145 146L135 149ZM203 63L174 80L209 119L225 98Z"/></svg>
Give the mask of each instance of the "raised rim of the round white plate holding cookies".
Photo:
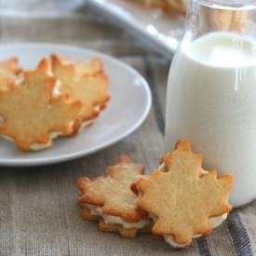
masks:
<svg viewBox="0 0 256 256"><path fill-rule="evenodd" d="M37 42L29 42L29 43L16 42L16 43L0 44L0 50L2 50L3 48L12 48L12 47L28 47L28 48L29 47L38 47L38 48L40 48L40 47L55 47L55 48L62 49L62 50L66 49L66 50L77 51L77 52L84 51L84 52L87 52L88 54L95 55L100 58L104 58L105 60L108 60L111 62L115 62L116 64L127 69L128 72L130 72L131 74L135 74L136 77L140 78L141 85L144 88L145 93L146 93L146 105L145 105L143 114L141 115L140 119L136 123L134 123L133 126L128 128L125 132L121 133L114 140L104 143L103 146L102 145L95 146L95 147L91 148L90 150L88 150L87 152L82 150L77 153L71 153L71 154L60 155L60 156L47 156L42 159L40 159L40 158L19 159L19 160L17 160L17 159L13 159L13 160L12 159L9 159L9 160L0 159L0 166L2 166L2 167L20 167L21 168L21 167L33 167L33 166L46 166L46 165L59 164L59 163L71 161L71 160L74 160L76 158L81 158L82 156L86 156L86 155L92 155L93 153L98 152L107 147L110 147L113 144L115 144L116 142L121 141L121 140L125 139L126 137L128 137L128 135L130 135L135 130L137 130L138 128L141 127L141 124L145 121L146 117L149 115L149 112L152 107L152 101L153 101L149 84L146 81L146 79L144 78L144 76L142 74L140 74L132 66L130 66L128 63L119 61L118 59L116 59L115 57L113 57L111 55L102 53L102 52L94 50L94 49L90 49L88 47L77 47L77 46L68 45L68 44L37 43ZM48 149L48 150L50 150L50 149ZM33 154L33 153L31 153L31 154Z"/></svg>

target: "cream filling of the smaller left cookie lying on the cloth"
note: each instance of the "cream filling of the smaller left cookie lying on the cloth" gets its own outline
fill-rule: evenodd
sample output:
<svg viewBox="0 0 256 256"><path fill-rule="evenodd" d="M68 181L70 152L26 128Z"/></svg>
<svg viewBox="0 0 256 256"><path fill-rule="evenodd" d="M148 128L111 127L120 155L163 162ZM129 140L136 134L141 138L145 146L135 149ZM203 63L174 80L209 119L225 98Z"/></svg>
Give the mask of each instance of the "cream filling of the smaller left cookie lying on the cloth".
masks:
<svg viewBox="0 0 256 256"><path fill-rule="evenodd" d="M102 213L101 208L85 204L85 206L90 209L90 214L94 216L101 216L107 224L121 224L124 228L142 228L149 224L147 220L141 220L140 222L125 222L122 218L117 216L105 215Z"/></svg>

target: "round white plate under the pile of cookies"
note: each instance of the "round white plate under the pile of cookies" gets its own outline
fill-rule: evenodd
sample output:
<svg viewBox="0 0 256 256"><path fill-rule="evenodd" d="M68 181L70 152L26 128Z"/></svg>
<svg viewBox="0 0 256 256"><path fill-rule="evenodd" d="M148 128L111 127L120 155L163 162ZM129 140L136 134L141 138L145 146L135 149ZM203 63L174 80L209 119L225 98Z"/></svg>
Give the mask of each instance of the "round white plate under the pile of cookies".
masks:
<svg viewBox="0 0 256 256"><path fill-rule="evenodd" d="M127 64L88 49L47 44L16 44L0 46L1 60L20 58L21 66L34 68L37 62L51 53L70 56L74 61L100 57L109 75L111 101L94 125L74 138L60 138L51 148L22 153L11 141L0 139L1 166L38 166L59 163L101 150L128 136L141 126L149 113L152 99L145 79Z"/></svg>

